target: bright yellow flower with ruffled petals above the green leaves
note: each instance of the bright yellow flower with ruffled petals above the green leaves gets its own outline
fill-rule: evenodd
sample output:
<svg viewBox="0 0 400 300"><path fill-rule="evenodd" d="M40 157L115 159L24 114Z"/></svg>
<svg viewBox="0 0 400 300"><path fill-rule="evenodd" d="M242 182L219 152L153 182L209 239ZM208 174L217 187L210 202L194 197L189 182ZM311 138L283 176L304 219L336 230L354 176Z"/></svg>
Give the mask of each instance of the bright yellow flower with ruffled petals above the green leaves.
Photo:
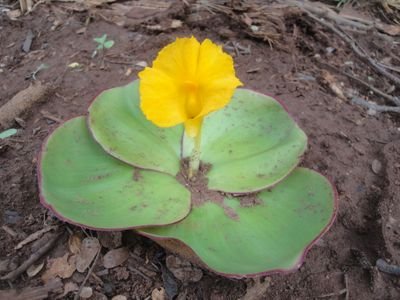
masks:
<svg viewBox="0 0 400 300"><path fill-rule="evenodd" d="M160 127L185 124L196 137L203 117L227 105L236 87L233 60L209 39L178 38L139 73L141 109Z"/></svg>

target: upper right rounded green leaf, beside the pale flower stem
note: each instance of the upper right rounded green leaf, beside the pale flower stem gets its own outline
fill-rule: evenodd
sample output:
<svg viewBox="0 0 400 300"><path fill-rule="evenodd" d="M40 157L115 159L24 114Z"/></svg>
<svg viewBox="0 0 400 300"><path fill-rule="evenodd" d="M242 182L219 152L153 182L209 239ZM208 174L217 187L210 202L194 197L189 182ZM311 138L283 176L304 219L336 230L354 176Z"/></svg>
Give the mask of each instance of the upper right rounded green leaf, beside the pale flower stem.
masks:
<svg viewBox="0 0 400 300"><path fill-rule="evenodd" d="M191 148L185 138L183 155ZM212 190L241 193L270 187L287 176L307 148L307 136L273 98L245 89L204 120L201 161Z"/></svg>

